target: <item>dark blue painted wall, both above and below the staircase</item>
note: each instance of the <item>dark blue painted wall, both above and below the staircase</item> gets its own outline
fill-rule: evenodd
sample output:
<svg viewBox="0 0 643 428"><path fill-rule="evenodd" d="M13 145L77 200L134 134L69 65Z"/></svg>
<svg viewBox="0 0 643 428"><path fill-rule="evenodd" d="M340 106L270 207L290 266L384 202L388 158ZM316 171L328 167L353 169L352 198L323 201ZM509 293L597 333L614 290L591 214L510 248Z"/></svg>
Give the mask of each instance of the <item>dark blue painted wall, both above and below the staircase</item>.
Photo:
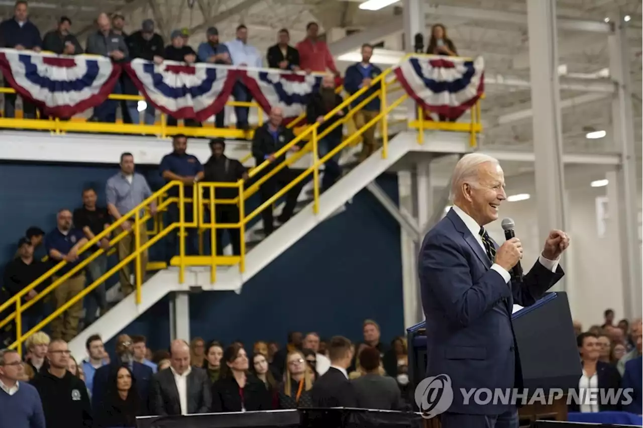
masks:
<svg viewBox="0 0 643 428"><path fill-rule="evenodd" d="M8 260L15 242L29 226L55 227L60 208L82 204L80 194L95 186L104 203L104 185L117 166L0 166L0 258ZM156 166L138 166L152 189L163 183ZM397 176L378 179L397 201ZM254 203L253 203L254 205ZM202 292L190 297L192 336L226 343L242 339L285 341L289 330L316 330L322 336L360 339L361 323L376 319L383 339L403 332L400 229L367 191L356 195L340 215L320 224L262 272L237 295ZM144 334L151 348L168 345L168 299L150 308L125 329ZM107 344L108 350L114 344Z"/></svg>

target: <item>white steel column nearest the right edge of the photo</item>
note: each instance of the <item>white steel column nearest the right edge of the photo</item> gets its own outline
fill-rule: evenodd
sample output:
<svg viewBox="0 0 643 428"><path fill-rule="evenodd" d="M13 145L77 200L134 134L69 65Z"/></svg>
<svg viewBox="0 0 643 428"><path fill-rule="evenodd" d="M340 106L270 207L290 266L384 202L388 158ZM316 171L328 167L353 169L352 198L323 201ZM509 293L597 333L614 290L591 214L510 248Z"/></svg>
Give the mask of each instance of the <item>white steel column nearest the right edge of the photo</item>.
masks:
<svg viewBox="0 0 643 428"><path fill-rule="evenodd" d="M643 316L640 254L638 245L638 205L634 125L632 116L632 88L630 55L625 34L627 22L622 16L612 20L613 33L609 36L610 73L617 82L612 102L613 141L621 153L617 168L617 196L620 238L620 262L623 283L625 317Z"/></svg>

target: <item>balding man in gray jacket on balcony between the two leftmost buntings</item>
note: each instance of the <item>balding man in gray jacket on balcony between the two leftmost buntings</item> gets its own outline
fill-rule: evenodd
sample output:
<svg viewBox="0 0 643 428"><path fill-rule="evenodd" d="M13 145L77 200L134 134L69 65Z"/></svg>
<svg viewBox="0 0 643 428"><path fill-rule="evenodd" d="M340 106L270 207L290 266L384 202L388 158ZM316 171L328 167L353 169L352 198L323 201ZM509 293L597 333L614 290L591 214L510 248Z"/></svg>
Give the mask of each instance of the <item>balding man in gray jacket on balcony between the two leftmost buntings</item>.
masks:
<svg viewBox="0 0 643 428"><path fill-rule="evenodd" d="M124 62L127 60L129 57L129 51L127 49L127 44L125 43L125 39L123 39L122 35L114 33L107 13L101 13L98 15L96 24L98 25L98 31L87 37L86 53L109 57L114 62ZM123 93L120 82L116 82L112 93ZM117 106L118 101L109 99L105 100L101 105L94 108L94 114L91 120L98 122L116 122Z"/></svg>

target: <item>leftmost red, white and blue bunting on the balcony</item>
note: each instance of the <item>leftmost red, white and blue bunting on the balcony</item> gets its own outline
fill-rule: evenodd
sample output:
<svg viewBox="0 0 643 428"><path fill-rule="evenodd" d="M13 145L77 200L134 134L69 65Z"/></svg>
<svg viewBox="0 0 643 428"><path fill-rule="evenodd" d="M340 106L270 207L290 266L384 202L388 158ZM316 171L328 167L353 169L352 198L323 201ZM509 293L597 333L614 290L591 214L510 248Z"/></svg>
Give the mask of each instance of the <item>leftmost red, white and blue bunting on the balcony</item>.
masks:
<svg viewBox="0 0 643 428"><path fill-rule="evenodd" d="M104 57L59 57L0 49L6 82L44 114L70 118L102 103L121 69Z"/></svg>

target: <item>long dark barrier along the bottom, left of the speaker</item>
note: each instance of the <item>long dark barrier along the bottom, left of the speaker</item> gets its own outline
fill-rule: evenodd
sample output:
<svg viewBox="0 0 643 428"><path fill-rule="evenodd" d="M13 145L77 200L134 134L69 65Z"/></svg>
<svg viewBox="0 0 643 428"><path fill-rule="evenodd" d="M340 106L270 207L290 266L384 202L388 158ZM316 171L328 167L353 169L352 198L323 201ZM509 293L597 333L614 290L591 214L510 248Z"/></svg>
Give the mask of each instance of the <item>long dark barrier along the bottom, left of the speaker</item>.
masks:
<svg viewBox="0 0 643 428"><path fill-rule="evenodd" d="M138 428L421 428L417 413L368 409L293 409L188 416L145 416Z"/></svg>

